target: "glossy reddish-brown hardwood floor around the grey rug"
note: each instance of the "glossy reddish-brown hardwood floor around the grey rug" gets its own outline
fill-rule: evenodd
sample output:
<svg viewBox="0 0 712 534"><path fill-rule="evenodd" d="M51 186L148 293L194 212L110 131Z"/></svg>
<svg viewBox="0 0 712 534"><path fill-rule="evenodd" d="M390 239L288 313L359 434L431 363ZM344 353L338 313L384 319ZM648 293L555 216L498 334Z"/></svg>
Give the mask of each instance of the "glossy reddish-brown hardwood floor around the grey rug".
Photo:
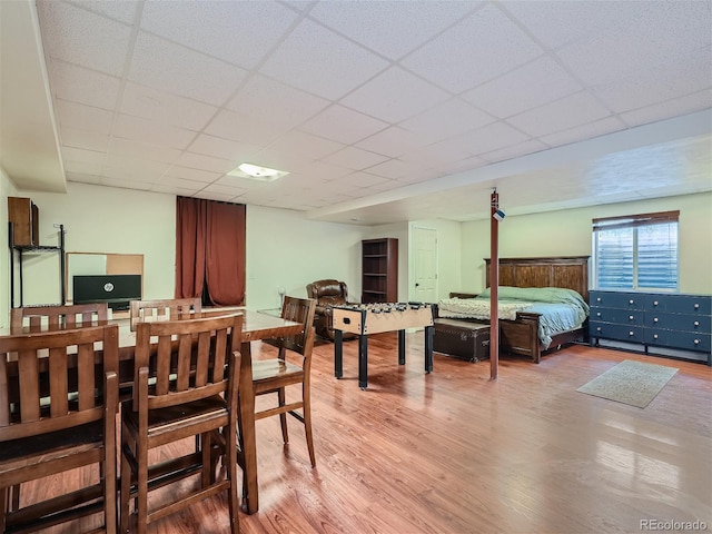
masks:
<svg viewBox="0 0 712 534"><path fill-rule="evenodd" d="M369 338L366 392L357 342L345 343L340 380L333 345L315 347L317 467L301 425L289 424L283 446L278 421L258 422L260 510L240 514L243 533L637 533L644 521L712 530L710 367L572 346L540 365L502 356L491 382L488 362L439 354L425 375L422 334L407 339L398 366L395 334ZM255 357L269 350L255 344ZM575 390L623 359L679 372L644 409ZM23 486L23 498L59 484ZM220 496L149 532L224 533L227 522Z"/></svg>

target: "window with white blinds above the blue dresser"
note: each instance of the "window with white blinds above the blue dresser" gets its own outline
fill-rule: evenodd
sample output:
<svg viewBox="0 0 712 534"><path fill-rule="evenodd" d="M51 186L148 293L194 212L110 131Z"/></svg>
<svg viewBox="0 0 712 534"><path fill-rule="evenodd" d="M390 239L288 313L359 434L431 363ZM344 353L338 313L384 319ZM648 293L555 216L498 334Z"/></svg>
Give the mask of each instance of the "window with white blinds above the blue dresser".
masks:
<svg viewBox="0 0 712 534"><path fill-rule="evenodd" d="M676 290L680 211L593 219L597 289Z"/></svg>

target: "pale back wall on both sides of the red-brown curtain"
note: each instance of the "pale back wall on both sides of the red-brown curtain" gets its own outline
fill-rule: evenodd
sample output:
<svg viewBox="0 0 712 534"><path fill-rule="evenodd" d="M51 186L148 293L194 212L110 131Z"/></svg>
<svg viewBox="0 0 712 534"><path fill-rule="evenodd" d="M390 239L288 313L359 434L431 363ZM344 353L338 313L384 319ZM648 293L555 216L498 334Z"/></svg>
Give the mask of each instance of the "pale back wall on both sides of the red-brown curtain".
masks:
<svg viewBox="0 0 712 534"><path fill-rule="evenodd" d="M69 184L67 195L19 196L32 198L39 207L42 245L58 244L52 224L61 222L67 251L142 254L144 297L175 295L175 196L83 184ZM3 205L7 210L7 201ZM358 226L307 220L299 211L248 206L246 305L278 307L279 287L288 295L306 296L306 285L320 278L343 279L359 296L363 231ZM58 255L33 256L23 265L24 304L57 303Z"/></svg>

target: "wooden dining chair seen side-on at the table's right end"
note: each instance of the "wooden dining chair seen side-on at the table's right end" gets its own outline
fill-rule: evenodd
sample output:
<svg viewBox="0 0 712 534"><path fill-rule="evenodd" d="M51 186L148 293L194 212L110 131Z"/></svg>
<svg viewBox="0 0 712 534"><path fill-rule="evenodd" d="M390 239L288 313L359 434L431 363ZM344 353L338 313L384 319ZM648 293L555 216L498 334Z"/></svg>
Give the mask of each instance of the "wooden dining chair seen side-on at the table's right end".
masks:
<svg viewBox="0 0 712 534"><path fill-rule="evenodd" d="M305 427L307 448L312 467L316 466L314 437L312 433L310 368L314 347L314 310L316 300L286 296L281 306L281 317L304 324L300 334L270 339L267 343L278 348L277 357L253 362L253 385L255 396L277 394L277 406L255 412L255 421L279 415L281 437L289 443L287 414L301 422ZM300 398L286 402L286 388L301 387Z"/></svg>

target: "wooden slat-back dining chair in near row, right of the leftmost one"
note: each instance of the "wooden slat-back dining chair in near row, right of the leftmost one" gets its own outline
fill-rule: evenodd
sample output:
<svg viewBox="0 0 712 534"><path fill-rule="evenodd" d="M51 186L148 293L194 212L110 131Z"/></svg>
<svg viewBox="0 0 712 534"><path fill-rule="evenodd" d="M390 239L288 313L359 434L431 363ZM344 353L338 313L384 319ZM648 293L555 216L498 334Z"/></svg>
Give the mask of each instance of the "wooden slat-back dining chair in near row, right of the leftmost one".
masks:
<svg viewBox="0 0 712 534"><path fill-rule="evenodd" d="M136 328L134 396L121 408L121 532L142 534L147 524L227 491L230 531L236 534L243 315L138 323ZM149 449L190 436L199 436L199 448L149 464ZM224 478L211 472L216 448L226 455ZM187 493L185 485L174 486L170 502L148 510L151 490L178 482L186 473L200 473L198 487Z"/></svg>

